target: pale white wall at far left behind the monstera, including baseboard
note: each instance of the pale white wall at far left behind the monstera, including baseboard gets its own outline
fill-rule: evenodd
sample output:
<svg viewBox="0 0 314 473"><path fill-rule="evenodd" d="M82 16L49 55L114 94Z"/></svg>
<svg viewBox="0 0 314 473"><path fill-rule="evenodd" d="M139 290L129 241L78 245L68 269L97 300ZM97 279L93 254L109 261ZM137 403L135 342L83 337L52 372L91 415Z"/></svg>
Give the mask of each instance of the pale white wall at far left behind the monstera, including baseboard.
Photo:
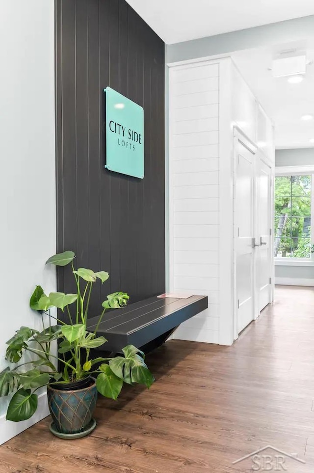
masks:
<svg viewBox="0 0 314 473"><path fill-rule="evenodd" d="M55 290L44 268L55 253L54 2L0 1L0 369L5 342L21 325L40 327L28 307L36 284ZM47 415L45 396L30 421L4 420L0 443Z"/></svg>

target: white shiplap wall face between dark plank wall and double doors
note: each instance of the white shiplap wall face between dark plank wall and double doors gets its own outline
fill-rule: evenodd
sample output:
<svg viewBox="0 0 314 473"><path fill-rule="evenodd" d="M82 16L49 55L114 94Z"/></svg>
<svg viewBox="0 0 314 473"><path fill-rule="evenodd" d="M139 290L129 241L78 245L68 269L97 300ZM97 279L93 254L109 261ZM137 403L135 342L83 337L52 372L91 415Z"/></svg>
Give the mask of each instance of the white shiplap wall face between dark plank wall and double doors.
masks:
<svg viewBox="0 0 314 473"><path fill-rule="evenodd" d="M174 338L219 342L219 64L169 70L169 290L209 308Z"/></svg>

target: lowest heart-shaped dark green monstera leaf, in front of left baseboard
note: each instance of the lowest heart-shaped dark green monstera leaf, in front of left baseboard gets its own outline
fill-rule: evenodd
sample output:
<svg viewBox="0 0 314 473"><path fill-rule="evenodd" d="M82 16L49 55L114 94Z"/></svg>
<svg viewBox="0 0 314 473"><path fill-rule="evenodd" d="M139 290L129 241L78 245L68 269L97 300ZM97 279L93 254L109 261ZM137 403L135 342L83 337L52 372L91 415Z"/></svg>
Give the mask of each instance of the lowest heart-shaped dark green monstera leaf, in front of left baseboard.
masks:
<svg viewBox="0 0 314 473"><path fill-rule="evenodd" d="M29 419L36 412L37 403L37 394L31 394L30 389L19 389L10 401L6 420L19 422Z"/></svg>

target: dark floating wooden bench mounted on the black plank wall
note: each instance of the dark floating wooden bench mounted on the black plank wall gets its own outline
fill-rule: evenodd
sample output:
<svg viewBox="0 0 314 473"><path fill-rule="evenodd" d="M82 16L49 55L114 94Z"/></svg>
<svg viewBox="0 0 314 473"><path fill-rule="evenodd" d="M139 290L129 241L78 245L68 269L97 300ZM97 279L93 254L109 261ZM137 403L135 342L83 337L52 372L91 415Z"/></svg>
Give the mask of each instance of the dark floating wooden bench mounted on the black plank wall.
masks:
<svg viewBox="0 0 314 473"><path fill-rule="evenodd" d="M187 299L150 297L123 309L106 311L97 336L102 335L108 340L104 345L105 351L119 353L131 344L148 353L164 343L182 322L207 307L207 296ZM95 330L97 319L89 319L89 331ZM102 351L102 347L97 351Z"/></svg>

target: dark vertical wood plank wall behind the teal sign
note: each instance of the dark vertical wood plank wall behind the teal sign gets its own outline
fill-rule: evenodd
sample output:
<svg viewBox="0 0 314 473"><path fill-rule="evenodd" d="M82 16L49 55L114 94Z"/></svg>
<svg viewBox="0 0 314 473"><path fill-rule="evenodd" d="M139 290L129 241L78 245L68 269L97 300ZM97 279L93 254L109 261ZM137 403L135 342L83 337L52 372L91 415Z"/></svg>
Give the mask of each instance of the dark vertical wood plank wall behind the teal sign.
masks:
<svg viewBox="0 0 314 473"><path fill-rule="evenodd" d="M164 43L124 0L56 0L55 27L57 251L109 271L96 315L111 292L165 289ZM107 86L144 107L143 180L104 168ZM59 291L71 276L58 271Z"/></svg>

